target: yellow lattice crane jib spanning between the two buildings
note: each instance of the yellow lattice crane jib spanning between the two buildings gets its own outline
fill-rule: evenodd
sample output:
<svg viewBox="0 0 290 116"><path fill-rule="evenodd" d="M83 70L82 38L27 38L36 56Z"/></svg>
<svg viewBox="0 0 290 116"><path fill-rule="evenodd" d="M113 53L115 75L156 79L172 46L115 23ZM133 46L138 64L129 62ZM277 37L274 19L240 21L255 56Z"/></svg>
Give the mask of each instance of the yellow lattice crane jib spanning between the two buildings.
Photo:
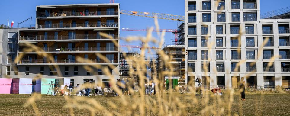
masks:
<svg viewBox="0 0 290 116"><path fill-rule="evenodd" d="M154 16L156 16L159 19L167 19L167 20L174 20L174 21L184 21L185 19L184 16L152 13L152 12L137 12L137 11L121 10L120 14L134 15L134 16L140 16L140 17L149 17L149 18L154 18Z"/></svg>

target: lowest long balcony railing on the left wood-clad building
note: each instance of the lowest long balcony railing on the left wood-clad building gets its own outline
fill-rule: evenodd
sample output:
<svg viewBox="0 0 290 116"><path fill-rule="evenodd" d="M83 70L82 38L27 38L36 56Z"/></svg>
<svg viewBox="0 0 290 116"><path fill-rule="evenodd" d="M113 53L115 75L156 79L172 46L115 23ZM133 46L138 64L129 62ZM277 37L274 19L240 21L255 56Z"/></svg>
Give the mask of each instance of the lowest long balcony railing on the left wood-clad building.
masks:
<svg viewBox="0 0 290 116"><path fill-rule="evenodd" d="M107 62L108 61L108 62ZM76 60L76 59L55 59L54 62L50 62L44 59L24 59L19 60L19 64L43 64L43 63L118 63L118 59L83 59L83 60Z"/></svg>

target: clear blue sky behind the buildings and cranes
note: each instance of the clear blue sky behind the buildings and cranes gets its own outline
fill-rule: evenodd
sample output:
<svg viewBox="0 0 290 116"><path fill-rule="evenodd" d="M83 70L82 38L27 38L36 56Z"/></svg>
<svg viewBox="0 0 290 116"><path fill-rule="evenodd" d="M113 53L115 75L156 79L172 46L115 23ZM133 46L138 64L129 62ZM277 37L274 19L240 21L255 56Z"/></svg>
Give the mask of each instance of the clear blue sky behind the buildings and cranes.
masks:
<svg viewBox="0 0 290 116"><path fill-rule="evenodd" d="M15 26L18 22L32 16L32 24L35 24L35 8L37 5L55 5L55 4L86 4L86 3L109 3L110 0L1 0L0 24L7 25L14 21ZM178 1L178 2L177 2ZM120 3L121 10L155 12L174 15L185 15L184 0L115 0ZM260 0L261 13L290 6L289 0ZM154 26L153 18L136 17L130 15L120 16L120 28L146 29ZM25 24L30 24L28 21ZM177 21L159 19L161 29L176 29ZM121 37L129 35L145 36L146 32L121 31ZM156 34L153 34L156 36ZM170 42L171 33L166 33L166 41ZM121 44L125 44L121 41ZM140 45L140 43L130 43Z"/></svg>

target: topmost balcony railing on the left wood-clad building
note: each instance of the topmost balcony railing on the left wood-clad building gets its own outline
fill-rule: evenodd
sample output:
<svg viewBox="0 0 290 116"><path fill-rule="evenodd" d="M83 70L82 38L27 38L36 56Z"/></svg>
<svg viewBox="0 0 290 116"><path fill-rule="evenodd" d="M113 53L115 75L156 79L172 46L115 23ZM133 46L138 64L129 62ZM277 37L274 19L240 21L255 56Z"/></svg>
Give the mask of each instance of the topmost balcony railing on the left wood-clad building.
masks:
<svg viewBox="0 0 290 116"><path fill-rule="evenodd" d="M101 15L118 15L118 11L63 11L63 12L39 12L40 17L65 17L65 16L101 16Z"/></svg>

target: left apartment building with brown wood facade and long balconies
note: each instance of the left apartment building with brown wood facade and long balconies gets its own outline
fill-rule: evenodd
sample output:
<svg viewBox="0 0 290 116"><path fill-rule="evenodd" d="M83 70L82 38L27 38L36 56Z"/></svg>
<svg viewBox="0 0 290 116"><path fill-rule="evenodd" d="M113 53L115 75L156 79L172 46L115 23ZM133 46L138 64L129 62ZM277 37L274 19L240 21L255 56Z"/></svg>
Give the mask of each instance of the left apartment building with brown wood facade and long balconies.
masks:
<svg viewBox="0 0 290 116"><path fill-rule="evenodd" d="M7 62L16 56L23 57L13 65L15 68L7 67L9 72L2 70L2 75L34 78L41 74L43 78L70 78L76 86L85 81L108 82L110 77L102 71L108 68L115 79L119 78L119 47L114 44L119 45L119 8L118 3L36 6L35 28L17 29L15 35L9 31L5 37L8 39ZM103 37L99 32L107 33L113 39ZM10 36L14 41L9 41ZM27 51L31 47L26 43L38 46L39 50ZM54 61L41 53L52 56ZM55 65L59 66L62 77L57 74ZM101 65L101 68L94 68L95 65Z"/></svg>

